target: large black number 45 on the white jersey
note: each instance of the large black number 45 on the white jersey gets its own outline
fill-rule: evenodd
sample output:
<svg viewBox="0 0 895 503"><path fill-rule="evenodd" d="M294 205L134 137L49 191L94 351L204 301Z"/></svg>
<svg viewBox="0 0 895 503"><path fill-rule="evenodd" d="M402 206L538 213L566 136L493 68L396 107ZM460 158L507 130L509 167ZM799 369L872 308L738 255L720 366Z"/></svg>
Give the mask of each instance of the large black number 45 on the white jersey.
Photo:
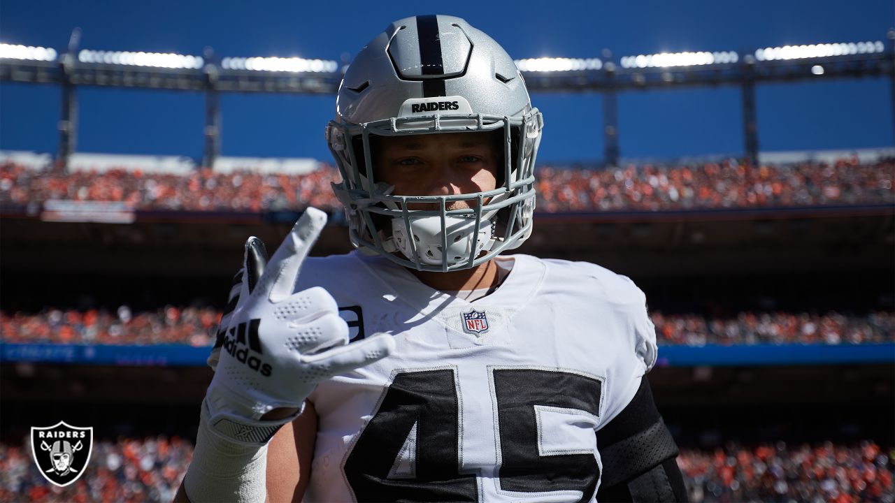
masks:
<svg viewBox="0 0 895 503"><path fill-rule="evenodd" d="M502 458L500 490L578 490L580 501L590 501L600 477L596 458L592 454L541 456L534 406L597 416L601 381L542 369L494 369L491 377ZM453 369L398 373L345 460L345 476L357 500L478 501L475 475L459 470L458 417ZM396 470L405 449L413 449L415 462Z"/></svg>

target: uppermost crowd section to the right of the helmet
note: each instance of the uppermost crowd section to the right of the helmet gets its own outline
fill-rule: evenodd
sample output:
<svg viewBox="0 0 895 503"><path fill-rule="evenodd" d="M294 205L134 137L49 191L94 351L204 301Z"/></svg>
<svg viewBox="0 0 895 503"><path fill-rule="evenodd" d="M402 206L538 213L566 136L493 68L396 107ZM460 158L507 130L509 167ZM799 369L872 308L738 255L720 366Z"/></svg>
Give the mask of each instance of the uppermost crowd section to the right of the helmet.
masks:
<svg viewBox="0 0 895 503"><path fill-rule="evenodd" d="M537 208L595 210L746 208L892 202L895 159L862 165L802 163L752 167L729 159L700 166L645 165L605 170L543 166Z"/></svg>

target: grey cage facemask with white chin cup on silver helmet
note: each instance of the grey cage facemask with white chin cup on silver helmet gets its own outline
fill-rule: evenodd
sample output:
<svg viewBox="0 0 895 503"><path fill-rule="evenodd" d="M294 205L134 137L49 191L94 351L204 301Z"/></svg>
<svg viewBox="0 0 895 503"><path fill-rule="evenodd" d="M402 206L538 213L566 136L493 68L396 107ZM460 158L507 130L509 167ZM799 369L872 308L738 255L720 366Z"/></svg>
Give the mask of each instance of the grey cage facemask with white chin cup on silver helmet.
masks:
<svg viewBox="0 0 895 503"><path fill-rule="evenodd" d="M473 268L516 248L532 231L533 167L541 127L537 109L519 118L430 115L354 127L330 122L329 148L343 179L333 189L345 205L352 243L362 252L382 254L405 267L442 272ZM503 140L499 185L493 190L397 195L375 178L371 137L489 131L499 132ZM448 209L456 201L465 201L468 208ZM421 205L431 209L412 209Z"/></svg>

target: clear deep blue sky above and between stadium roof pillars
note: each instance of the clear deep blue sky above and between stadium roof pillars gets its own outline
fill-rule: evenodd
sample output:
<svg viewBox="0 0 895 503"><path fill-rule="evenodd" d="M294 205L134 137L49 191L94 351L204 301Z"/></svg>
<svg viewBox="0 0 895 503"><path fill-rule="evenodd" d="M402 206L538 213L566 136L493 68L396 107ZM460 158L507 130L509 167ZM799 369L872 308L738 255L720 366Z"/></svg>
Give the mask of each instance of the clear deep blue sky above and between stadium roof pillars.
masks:
<svg viewBox="0 0 895 503"><path fill-rule="evenodd" d="M424 9L425 12L422 12ZM390 21L449 13L497 39L516 58L593 57L683 50L751 51L821 42L886 41L891 0L814 2L122 2L0 0L0 41L64 49L74 27L81 48L223 56L354 55ZM886 42L888 44L888 42ZM85 88L78 150L200 158L200 93ZM601 158L597 94L533 94L546 128L542 160ZM738 154L743 150L735 87L629 92L619 97L623 157ZM763 150L891 146L886 79L763 85L757 91ZM222 154L328 159L328 96L225 95ZM60 92L52 85L0 84L0 149L54 152Z"/></svg>

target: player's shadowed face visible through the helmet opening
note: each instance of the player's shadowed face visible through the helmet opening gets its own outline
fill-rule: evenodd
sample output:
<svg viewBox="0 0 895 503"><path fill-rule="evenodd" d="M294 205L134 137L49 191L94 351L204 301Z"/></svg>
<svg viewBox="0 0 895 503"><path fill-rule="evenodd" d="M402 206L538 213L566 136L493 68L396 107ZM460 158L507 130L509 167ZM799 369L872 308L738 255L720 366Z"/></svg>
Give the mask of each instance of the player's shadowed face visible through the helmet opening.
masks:
<svg viewBox="0 0 895 503"><path fill-rule="evenodd" d="M493 132L451 132L379 139L376 175L395 195L455 195L497 187ZM447 209L470 208L456 201ZM417 208L410 208L417 209ZM422 208L419 208L422 209Z"/></svg>

